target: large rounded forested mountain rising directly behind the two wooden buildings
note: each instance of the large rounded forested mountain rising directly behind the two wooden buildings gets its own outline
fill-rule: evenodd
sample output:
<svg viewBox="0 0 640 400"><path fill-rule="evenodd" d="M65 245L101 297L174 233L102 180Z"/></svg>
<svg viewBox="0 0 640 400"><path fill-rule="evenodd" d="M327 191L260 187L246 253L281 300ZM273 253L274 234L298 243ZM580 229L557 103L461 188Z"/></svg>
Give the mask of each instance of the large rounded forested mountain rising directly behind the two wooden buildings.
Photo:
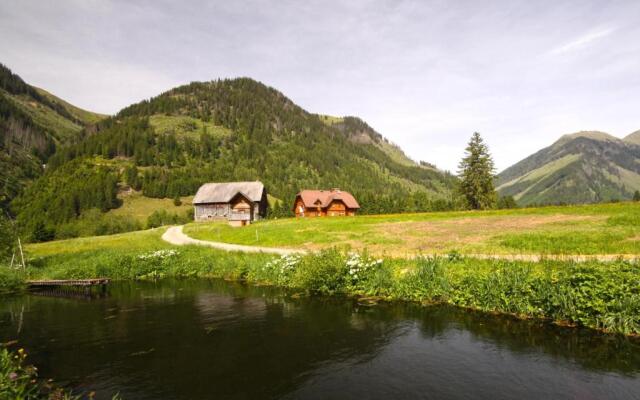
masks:
<svg viewBox="0 0 640 400"><path fill-rule="evenodd" d="M46 225L55 235L92 208L118 207L117 191L176 198L210 181L261 180L281 200L276 216L289 215L295 194L308 188L348 190L366 213L453 201L454 176L410 160L364 121L309 113L249 78L180 86L83 132L58 148L46 174L14 202L27 231Z"/></svg>

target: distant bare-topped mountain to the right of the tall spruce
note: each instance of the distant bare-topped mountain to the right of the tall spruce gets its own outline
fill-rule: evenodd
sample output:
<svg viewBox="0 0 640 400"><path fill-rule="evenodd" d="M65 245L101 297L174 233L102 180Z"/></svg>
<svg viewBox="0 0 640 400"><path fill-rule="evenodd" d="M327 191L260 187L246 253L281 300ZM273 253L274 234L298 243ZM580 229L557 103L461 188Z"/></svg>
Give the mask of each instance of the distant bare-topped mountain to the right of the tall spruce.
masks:
<svg viewBox="0 0 640 400"><path fill-rule="evenodd" d="M497 189L521 205L630 199L640 189L640 131L564 135L498 174Z"/></svg>

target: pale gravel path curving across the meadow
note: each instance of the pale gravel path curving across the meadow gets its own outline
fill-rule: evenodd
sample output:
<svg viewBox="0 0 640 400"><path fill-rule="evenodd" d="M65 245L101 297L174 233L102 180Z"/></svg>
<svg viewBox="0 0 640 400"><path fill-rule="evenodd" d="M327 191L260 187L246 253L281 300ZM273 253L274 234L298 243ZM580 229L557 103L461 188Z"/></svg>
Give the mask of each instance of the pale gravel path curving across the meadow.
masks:
<svg viewBox="0 0 640 400"><path fill-rule="evenodd" d="M214 249L226 250L226 251L242 251L245 253L271 253L271 254L305 254L307 250L303 249L283 249L278 247L261 247L261 246L246 246L241 244L231 244L222 242L211 242L208 240L194 239L187 236L182 232L182 226L172 226L162 235L162 240L175 244L178 246L195 244L198 246L207 246ZM429 255L429 254L425 254ZM446 256L442 254L442 256ZM611 262L617 260L640 260L640 255L636 254L461 254L462 257L477 258L482 260L507 260L507 261L533 261L538 262L542 260L554 260L554 261L602 261Z"/></svg>

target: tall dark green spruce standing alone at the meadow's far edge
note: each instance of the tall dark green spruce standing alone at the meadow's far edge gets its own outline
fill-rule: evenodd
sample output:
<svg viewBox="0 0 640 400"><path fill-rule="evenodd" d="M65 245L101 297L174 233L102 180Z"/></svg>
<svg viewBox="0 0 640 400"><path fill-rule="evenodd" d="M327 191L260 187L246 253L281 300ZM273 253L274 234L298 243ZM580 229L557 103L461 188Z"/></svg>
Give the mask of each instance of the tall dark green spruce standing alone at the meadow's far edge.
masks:
<svg viewBox="0 0 640 400"><path fill-rule="evenodd" d="M474 132L458 166L460 192L469 208L494 208L497 194L493 186L494 166L487 145L478 132Z"/></svg>

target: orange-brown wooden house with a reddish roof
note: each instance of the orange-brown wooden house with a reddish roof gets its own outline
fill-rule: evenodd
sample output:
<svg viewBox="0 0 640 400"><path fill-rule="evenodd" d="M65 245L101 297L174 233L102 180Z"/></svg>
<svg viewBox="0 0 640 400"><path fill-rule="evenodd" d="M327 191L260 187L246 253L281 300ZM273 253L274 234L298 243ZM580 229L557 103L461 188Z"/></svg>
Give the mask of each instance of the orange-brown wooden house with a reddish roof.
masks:
<svg viewBox="0 0 640 400"><path fill-rule="evenodd" d="M340 189L303 190L296 195L296 217L334 217L356 215L360 205L349 192Z"/></svg>

